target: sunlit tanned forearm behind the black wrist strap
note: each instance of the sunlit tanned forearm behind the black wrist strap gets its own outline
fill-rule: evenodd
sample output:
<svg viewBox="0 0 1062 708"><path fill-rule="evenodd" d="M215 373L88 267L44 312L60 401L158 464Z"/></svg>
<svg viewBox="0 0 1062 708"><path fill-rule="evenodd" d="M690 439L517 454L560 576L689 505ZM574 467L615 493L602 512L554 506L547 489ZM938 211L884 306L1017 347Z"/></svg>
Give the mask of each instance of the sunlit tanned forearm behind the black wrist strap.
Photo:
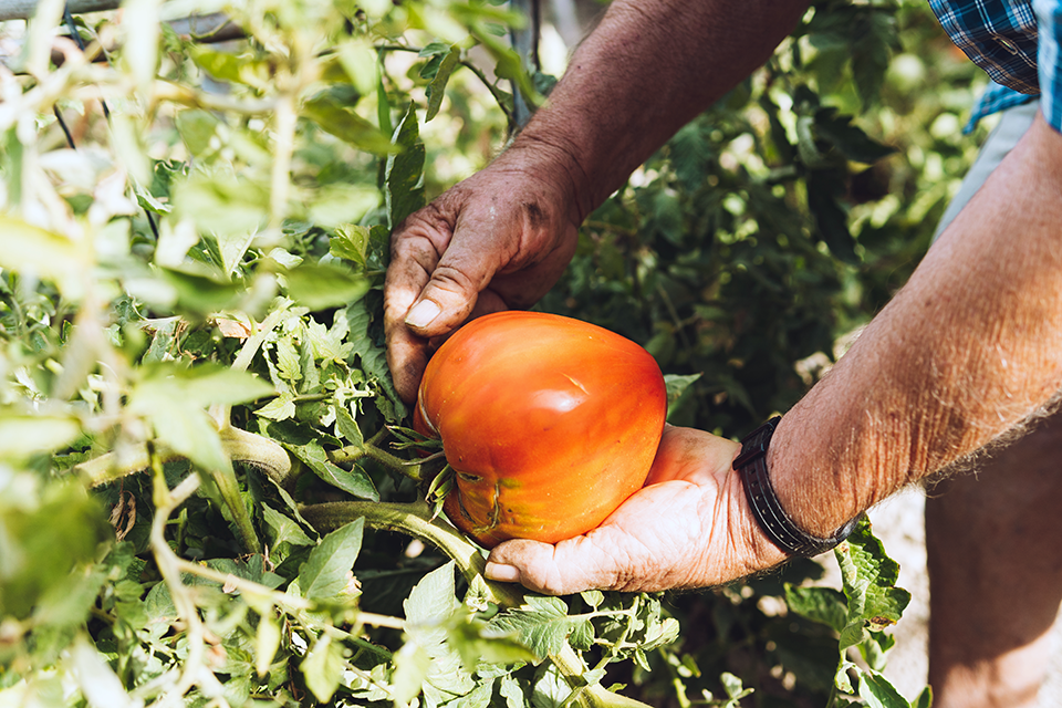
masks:
<svg viewBox="0 0 1062 708"><path fill-rule="evenodd" d="M908 284L789 412L768 465L829 535L977 450L1062 388L1062 135L1042 117Z"/></svg>

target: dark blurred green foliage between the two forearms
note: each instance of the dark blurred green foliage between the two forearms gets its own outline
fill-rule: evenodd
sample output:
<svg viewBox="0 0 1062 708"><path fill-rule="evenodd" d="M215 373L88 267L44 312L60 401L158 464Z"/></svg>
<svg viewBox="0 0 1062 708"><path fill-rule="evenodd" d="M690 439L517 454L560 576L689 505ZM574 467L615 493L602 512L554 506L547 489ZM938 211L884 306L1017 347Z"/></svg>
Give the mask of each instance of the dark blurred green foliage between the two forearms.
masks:
<svg viewBox="0 0 1062 708"><path fill-rule="evenodd" d="M671 421L783 413L903 285L987 131L987 77L925 3L818 2L583 227L544 300L700 377Z"/></svg>

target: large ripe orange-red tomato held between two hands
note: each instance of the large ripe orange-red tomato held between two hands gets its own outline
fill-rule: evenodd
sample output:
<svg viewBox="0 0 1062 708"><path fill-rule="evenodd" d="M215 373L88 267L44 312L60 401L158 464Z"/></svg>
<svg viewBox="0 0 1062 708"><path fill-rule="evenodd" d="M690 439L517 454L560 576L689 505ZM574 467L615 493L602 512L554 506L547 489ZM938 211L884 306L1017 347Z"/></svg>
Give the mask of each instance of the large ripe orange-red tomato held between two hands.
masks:
<svg viewBox="0 0 1062 708"><path fill-rule="evenodd" d="M485 548L595 528L645 482L667 400L656 361L569 317L500 312L428 362L414 427L457 472L446 516Z"/></svg>

